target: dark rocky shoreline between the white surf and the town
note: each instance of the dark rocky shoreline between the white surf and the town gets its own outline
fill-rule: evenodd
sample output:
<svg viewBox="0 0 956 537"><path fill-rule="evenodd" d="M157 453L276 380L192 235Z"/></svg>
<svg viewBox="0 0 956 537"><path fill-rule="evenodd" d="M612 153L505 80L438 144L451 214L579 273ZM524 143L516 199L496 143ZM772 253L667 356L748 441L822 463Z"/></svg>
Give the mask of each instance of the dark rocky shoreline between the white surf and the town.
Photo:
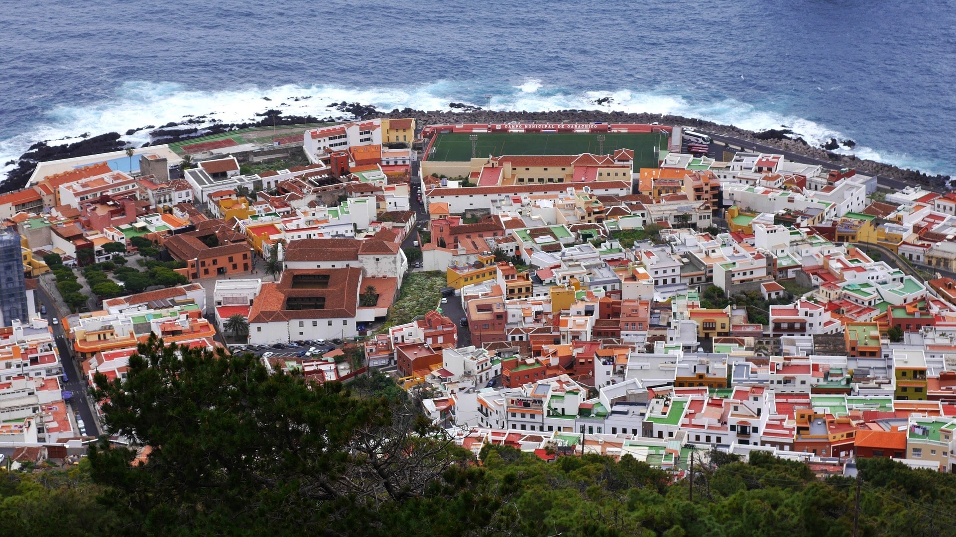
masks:
<svg viewBox="0 0 956 537"><path fill-rule="evenodd" d="M704 121L696 118L684 118L681 116L667 116L662 114L627 114L623 112L603 112L599 110L558 110L554 112L496 112L483 110L479 107L469 106L462 103L450 103L452 111L423 111L405 108L404 110L392 110L391 112L381 112L374 106L362 105L359 103L348 103L342 101L329 105L329 108L335 109L340 114L330 115L327 118L315 118L313 116L285 116L281 110L269 110L263 114L256 114L257 121L245 123L223 123L217 119L210 119L205 116L197 118L188 118L177 123L168 123L159 128L152 125L130 129L127 135L132 135L141 130L149 129L150 141L146 145L160 145L179 140L188 140L202 136L219 134L234 129L243 129L255 126L282 126L301 123L314 123L320 121L336 121L349 118L415 118L419 124L442 124L442 123L504 123L508 121L547 121L559 123L569 122L616 122L616 123L652 123L659 122L665 125L688 125L695 128L707 130L719 130L728 136L750 140L766 145L771 145L781 150L792 151L823 161L831 161L839 166L857 168L864 173L880 174L904 181L907 183L923 184L935 188L945 188L948 176L930 176L917 170L900 168L890 164L877 161L860 160L857 157L839 155L828 149L835 149L839 145L852 147L852 140L830 140L826 148L814 147L806 141L799 138L791 138L792 134L788 130L773 130L756 133L739 129L732 125L720 125L711 121ZM332 112L330 110L330 112ZM206 125L203 125L206 123ZM33 174L33 169L39 161L55 161L59 159L68 159L71 157L82 157L105 153L110 151L121 151L126 147L126 143L120 139L119 133L106 133L94 137L87 137L85 140L77 141L71 144L50 145L47 141L41 141L33 144L27 153L24 153L14 162L16 167L8 174L3 183L0 183L0 193L10 192L23 188Z"/></svg>

